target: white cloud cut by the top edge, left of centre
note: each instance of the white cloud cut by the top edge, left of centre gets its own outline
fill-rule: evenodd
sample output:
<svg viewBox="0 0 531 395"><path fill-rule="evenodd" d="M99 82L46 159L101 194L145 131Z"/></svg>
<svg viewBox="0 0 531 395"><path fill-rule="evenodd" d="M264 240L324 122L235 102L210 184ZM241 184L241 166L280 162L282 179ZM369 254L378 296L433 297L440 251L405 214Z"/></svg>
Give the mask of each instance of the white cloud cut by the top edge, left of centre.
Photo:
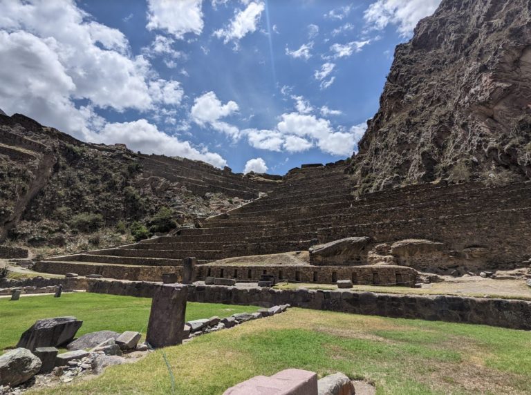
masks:
<svg viewBox="0 0 531 395"><path fill-rule="evenodd" d="M176 39L186 33L201 35L203 31L202 0L147 0L147 28L166 30Z"/></svg>

